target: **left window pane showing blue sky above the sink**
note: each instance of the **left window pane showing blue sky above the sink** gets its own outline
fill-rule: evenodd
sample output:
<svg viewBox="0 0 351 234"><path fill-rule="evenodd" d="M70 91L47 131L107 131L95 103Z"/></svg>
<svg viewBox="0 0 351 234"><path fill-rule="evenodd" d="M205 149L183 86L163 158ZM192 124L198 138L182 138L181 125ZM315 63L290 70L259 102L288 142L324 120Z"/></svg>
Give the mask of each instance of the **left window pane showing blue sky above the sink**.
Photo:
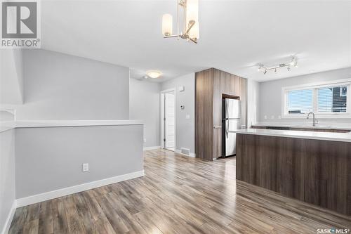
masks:
<svg viewBox="0 0 351 234"><path fill-rule="evenodd" d="M313 111L313 89L291 90L287 93L288 114L306 114Z"/></svg>

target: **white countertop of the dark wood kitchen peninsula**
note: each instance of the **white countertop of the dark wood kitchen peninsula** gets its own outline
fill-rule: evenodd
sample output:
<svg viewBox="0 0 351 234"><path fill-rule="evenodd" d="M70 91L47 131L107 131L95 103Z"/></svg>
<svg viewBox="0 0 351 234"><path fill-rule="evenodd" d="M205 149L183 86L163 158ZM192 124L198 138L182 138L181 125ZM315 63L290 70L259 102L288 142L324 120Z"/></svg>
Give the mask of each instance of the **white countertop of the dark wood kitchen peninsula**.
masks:
<svg viewBox="0 0 351 234"><path fill-rule="evenodd" d="M324 141L351 142L351 133L335 133L322 131L293 131L293 130L271 130L271 129L240 129L231 131L237 134L252 134L262 136L281 136L290 138L305 138Z"/></svg>

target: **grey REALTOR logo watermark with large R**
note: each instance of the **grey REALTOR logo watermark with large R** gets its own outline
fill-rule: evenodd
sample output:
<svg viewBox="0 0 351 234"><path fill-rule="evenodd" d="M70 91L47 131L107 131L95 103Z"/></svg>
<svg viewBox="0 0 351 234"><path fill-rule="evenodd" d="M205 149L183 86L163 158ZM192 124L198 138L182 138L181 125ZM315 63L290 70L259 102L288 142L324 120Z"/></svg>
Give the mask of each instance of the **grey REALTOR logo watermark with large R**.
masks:
<svg viewBox="0 0 351 234"><path fill-rule="evenodd" d="M40 48L38 1L1 1L1 48Z"/></svg>

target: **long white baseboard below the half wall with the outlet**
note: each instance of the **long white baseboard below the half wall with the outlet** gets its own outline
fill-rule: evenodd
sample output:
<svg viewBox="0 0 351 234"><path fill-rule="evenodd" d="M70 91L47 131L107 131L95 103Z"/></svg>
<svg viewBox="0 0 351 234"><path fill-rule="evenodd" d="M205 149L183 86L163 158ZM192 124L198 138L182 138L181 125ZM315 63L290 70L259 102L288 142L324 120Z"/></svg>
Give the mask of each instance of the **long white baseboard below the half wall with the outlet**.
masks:
<svg viewBox="0 0 351 234"><path fill-rule="evenodd" d="M110 178L104 178L100 181L92 181L89 183L82 183L80 185L77 186L72 186L72 187L67 187L67 188L61 188L58 190L53 190L50 192L46 192L46 193L40 193L37 195L32 195L29 197L22 197L22 198L18 198L17 200L17 207L25 207L29 204L34 204L34 203L38 203L38 202L44 202L46 200L51 200L57 197L62 197L65 195L70 195L73 193L79 193L81 191L85 191L85 190L89 190L92 188L98 188L101 186L107 186L111 183L117 183L117 182L121 182L121 181L126 181L132 178L138 178L141 176L144 176L144 170L142 171L135 171L133 173L129 173L129 174L124 174L121 176L114 176L114 177L110 177Z"/></svg>

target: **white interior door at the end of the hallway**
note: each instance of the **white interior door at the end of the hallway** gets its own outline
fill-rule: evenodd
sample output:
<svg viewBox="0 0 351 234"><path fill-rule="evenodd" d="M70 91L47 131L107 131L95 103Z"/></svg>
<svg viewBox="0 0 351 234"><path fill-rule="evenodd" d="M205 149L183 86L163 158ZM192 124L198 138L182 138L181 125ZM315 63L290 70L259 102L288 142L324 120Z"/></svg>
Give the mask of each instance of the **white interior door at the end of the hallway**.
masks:
<svg viewBox="0 0 351 234"><path fill-rule="evenodd" d="M174 92L164 93L164 148L173 148L175 135Z"/></svg>

